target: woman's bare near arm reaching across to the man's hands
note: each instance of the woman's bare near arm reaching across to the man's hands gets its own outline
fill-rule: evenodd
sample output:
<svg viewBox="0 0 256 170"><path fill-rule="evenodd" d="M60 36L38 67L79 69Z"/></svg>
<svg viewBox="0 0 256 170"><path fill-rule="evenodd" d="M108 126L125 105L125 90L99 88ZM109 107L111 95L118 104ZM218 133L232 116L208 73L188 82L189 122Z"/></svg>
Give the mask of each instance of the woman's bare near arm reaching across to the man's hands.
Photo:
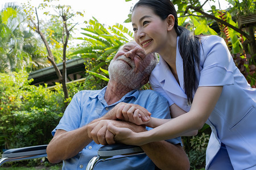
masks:
<svg viewBox="0 0 256 170"><path fill-rule="evenodd" d="M150 131L133 133L133 131L108 126L109 131L115 134L115 140L129 145L143 145L148 142L162 141L176 138L189 131L199 130L212 113L218 98L221 95L222 86L197 88L193 103L189 112L171 119Z"/></svg>

